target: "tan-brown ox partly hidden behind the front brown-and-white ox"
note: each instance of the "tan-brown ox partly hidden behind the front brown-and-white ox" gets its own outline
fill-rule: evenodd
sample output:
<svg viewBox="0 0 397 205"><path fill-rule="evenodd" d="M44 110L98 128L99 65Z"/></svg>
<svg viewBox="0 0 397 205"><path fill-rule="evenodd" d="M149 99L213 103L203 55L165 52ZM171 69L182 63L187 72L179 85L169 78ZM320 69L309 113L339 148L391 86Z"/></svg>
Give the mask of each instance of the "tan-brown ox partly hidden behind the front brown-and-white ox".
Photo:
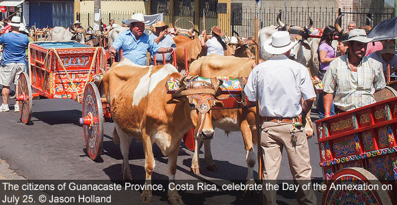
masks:
<svg viewBox="0 0 397 205"><path fill-rule="evenodd" d="M254 59L248 57L222 56L212 54L194 61L190 66L190 74L201 77L248 77L251 73ZM222 95L219 98L228 98ZM215 127L224 131L241 131L246 149L246 163L248 166L247 180L253 182L253 167L255 165L255 153L253 152L253 139L256 143L255 107L244 109L221 109L212 111L212 123ZM199 141L196 140L196 145ZM209 141L204 142L205 164L209 170L216 169L212 159ZM195 146L191 169L194 173L200 173L199 146Z"/></svg>

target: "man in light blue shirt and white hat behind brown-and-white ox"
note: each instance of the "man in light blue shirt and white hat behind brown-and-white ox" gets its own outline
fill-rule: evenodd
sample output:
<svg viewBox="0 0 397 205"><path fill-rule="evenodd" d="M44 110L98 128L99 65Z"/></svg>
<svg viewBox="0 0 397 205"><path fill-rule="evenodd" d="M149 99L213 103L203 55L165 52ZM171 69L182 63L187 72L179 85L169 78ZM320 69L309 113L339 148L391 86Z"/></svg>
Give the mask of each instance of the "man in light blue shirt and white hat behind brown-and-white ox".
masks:
<svg viewBox="0 0 397 205"><path fill-rule="evenodd" d="M123 49L123 57L131 60L134 64L141 66L146 65L146 52L149 51L151 55L156 53L170 53L174 51L174 48L159 48L154 40L149 38L149 35L144 33L144 21L143 14L133 14L131 19L125 23L129 25L130 29L123 31L118 34L117 38L110 46L109 53L110 57L116 55L118 49Z"/></svg>

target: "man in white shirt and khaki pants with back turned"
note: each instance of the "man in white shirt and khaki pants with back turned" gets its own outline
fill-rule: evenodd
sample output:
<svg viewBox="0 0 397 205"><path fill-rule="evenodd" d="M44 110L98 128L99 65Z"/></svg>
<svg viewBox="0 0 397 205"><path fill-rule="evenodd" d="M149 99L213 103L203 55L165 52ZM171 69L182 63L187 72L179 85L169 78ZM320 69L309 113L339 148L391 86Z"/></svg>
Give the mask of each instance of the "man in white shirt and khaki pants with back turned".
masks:
<svg viewBox="0 0 397 205"><path fill-rule="evenodd" d="M311 165L305 125L299 119L305 119L316 93L305 66L287 57L296 43L291 42L287 31L273 33L264 42L264 49L274 56L255 66L244 92L248 100L259 100L259 113L264 118L261 124L264 182L277 180L285 147L292 176L301 188L311 180ZM276 191L264 190L263 197L264 204L276 204ZM299 204L317 203L311 189L298 189L296 200Z"/></svg>

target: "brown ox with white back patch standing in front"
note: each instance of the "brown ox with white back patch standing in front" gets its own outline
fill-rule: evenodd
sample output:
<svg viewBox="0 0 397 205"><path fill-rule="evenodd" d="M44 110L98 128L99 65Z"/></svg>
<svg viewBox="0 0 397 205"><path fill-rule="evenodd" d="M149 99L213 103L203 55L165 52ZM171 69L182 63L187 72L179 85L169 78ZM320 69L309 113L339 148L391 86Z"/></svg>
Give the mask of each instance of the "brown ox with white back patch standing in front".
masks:
<svg viewBox="0 0 397 205"><path fill-rule="evenodd" d="M155 168L153 143L157 144L162 154L168 156L169 180L174 182L183 133L193 126L198 139L212 138L214 135L211 109L217 103L214 94L217 93L220 82L215 79L212 79L212 83L188 82L186 90L177 92L172 98L166 93L164 86L171 77L180 79L182 76L170 64L137 66L124 58L120 63L114 64L112 70L103 78L107 102L110 103L114 120L114 141L120 142L123 154L122 174L125 180L131 180L128 159L131 137L143 141L145 184L151 184ZM190 87L194 89L188 89ZM141 202L147 203L151 200L151 190L144 189ZM168 202L183 204L175 189L168 190Z"/></svg>

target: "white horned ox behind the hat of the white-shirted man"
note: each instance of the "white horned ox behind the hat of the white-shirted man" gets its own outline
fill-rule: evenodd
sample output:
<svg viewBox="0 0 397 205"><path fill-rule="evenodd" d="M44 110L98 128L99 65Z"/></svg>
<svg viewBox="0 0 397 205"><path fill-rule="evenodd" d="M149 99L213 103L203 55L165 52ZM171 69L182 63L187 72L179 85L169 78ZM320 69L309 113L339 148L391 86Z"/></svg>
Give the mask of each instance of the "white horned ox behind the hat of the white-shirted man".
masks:
<svg viewBox="0 0 397 205"><path fill-rule="evenodd" d="M281 30L283 31L288 31L290 32L292 40L298 40L298 44L296 44L292 49L291 49L291 54L290 54L290 59L294 59L295 61L299 62L300 64L303 64L306 66L307 60L305 58L305 55L303 53L303 47L305 49L310 50L309 43L307 42L307 38L309 38L309 31L313 26L313 20L311 20L309 16L309 25L305 27L298 27L298 26L289 26L285 25L283 22L280 20L281 17L281 11L277 15L277 23L279 24L279 27L281 27ZM272 25L270 27L264 27L259 30L258 32L258 38L259 38L259 58L263 59L264 61L270 59L272 55L270 53L267 53L264 50L264 42L268 40L274 32L276 32L278 27Z"/></svg>

